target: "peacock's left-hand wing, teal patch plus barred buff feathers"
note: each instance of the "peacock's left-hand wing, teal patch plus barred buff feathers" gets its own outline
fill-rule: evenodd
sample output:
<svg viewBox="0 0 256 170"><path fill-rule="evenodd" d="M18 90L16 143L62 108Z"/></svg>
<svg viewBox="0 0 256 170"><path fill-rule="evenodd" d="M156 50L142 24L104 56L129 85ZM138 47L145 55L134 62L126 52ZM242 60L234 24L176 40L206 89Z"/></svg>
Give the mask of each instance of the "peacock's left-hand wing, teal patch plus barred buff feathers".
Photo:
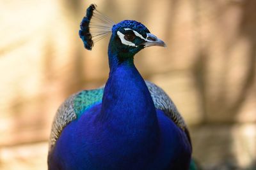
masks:
<svg viewBox="0 0 256 170"><path fill-rule="evenodd" d="M82 113L94 104L102 101L103 92L104 87L94 90L83 90L68 97L61 104L52 122L49 151L51 151L57 139L60 137L61 131L67 124L81 117Z"/></svg>

